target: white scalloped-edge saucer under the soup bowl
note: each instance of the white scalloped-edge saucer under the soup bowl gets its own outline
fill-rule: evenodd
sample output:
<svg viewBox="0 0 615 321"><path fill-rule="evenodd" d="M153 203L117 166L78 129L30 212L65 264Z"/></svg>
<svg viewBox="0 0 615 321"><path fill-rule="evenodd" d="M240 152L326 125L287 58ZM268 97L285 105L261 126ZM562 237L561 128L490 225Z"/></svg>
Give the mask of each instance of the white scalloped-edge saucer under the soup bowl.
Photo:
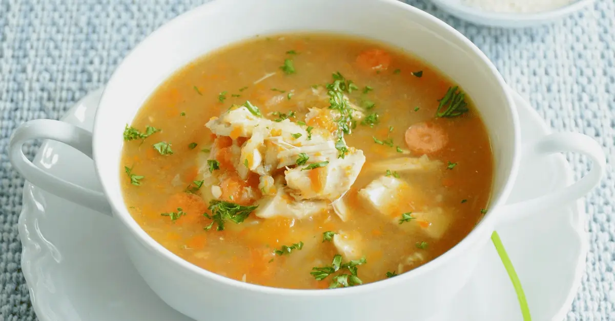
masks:
<svg viewBox="0 0 615 321"><path fill-rule="evenodd" d="M92 129L101 90L90 93L63 120ZM547 125L515 94L522 139L548 133ZM93 162L54 141L42 144L34 164L58 177L98 187ZM570 184L572 171L561 155L525 162L511 201L541 195ZM581 202L498 230L520 277L534 320L565 317L581 284L587 236ZM26 182L19 218L22 271L41 321L181 321L149 290L117 239L116 222L69 203ZM522 320L514 288L493 246L453 304L429 321ZM205 291L205 289L204 289ZM408 311L411 318L411 311ZM258 320L255 316L254 320Z"/></svg>

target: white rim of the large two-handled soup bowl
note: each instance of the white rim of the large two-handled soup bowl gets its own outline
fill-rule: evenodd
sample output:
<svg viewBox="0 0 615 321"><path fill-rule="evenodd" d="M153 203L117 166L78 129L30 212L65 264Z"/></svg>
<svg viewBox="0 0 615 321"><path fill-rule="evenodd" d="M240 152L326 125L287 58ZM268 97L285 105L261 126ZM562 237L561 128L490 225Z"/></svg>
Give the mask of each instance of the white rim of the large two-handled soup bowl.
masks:
<svg viewBox="0 0 615 321"><path fill-rule="evenodd" d="M235 0L239 1L239 0ZM324 1L324 0L323 0ZM507 102L507 112L510 113L510 119L512 121L512 128L514 133L514 146L512 147L512 163L510 166L510 172L508 177L504 179L504 184L501 187L501 192L499 193L497 198L491 197L490 204L488 205L488 212L484 215L483 219L478 222L475 227L459 241L455 244L451 249L446 250L446 252L442 253L442 255L434 258L434 260L428 261L422 266L418 268L412 269L406 273L400 274L395 278L383 279L377 282L371 282L369 284L364 284L360 287L345 287L345 288L335 288L335 289L292 289L292 288L278 288L278 287L269 287L266 285L258 285L258 284L250 284L247 282L242 282L240 280L231 279L229 277L221 276L220 274L213 273L212 271L208 271L207 269L200 268L183 258L180 258L170 250L163 247L159 242L151 238L149 234L145 232L141 228L140 225L133 219L132 215L127 211L127 207L121 199L111 198L109 197L109 193L105 192L105 196L107 197L109 204L114 211L114 217L117 217L121 220L122 224L125 226L126 230L133 236L140 244L142 244L147 250L154 253L162 260L168 261L170 264L174 265L176 268L180 268L184 273L190 273L189 277L204 277L205 279L216 282L220 285L224 285L225 287L234 288L234 290L247 291L252 293L262 293L268 295L284 295L284 296L322 296L322 297L333 297L333 296L341 296L341 295L355 295L359 293L367 293L374 292L378 290L382 290L383 288L389 287L394 284L394 282L402 283L403 280L409 280L416 277L419 277L427 271L434 270L439 266L442 266L446 261L451 260L452 258L458 257L462 255L465 251L471 249L477 241L480 241L482 236L485 233L487 235L491 234L493 230L493 226L496 222L496 215L494 215L494 211L490 211L496 207L502 206L506 198L510 194L512 190L512 185L514 184L514 178L517 176L518 166L520 163L520 125L518 120L518 115L516 110L514 109L514 101L512 99L512 95L510 90L508 90L506 82L502 78L501 74L499 74L496 67L491 63L491 61L486 57L486 55L476 46L474 45L467 37L463 36L459 31L447 25L444 21L434 17L423 10L420 10L416 7L410 6L404 2L400 2L398 0L371 0L373 2L380 2L383 6L391 6L391 10L405 10L410 15L419 16L428 20L430 23L433 23L440 28L440 31L443 33L448 33L451 36L455 37L457 40L461 41L469 50L471 50L473 55L476 55L483 64L486 64L486 67L490 71L491 76L496 79L499 87L501 88L501 95L506 99ZM117 188L114 185L108 183L105 178L105 173L101 171L101 167L97 166L97 159L99 155L104 155L104 149L99 147L101 145L101 137L105 136L103 133L105 132L105 124L101 122L101 117L98 117L98 113L101 112L101 106L106 105L106 98L109 88L113 88L109 84L113 83L116 78L118 78L119 71L122 69L127 60L132 60L135 51L138 48L143 47L145 44L149 44L149 42L154 41L159 35L165 34L167 29L174 28L176 25L181 25L185 23L186 20L191 20L194 17L197 17L198 14L204 10L216 10L220 12L220 9L224 9L224 6L228 7L232 1L211 1L205 4L202 4L198 7L195 7L187 12L178 15L173 18L164 25L159 26L156 30L154 30L151 34L149 34L145 39L143 39L138 45L136 45L130 52L124 57L121 63L116 67L115 71L111 75L108 80L108 84L105 86L103 93L101 95L101 99L98 105L98 110L94 119L93 126L93 139L92 139L92 149L93 149L93 160L95 162L95 171L97 177L100 181L101 186L103 187L103 191L113 190ZM306 29L306 31L310 31L310 29ZM320 32L321 30L319 30ZM272 34L276 33L275 31ZM262 34L261 34L262 35ZM437 67L437 66L436 66ZM100 133L99 133L100 132ZM98 134L97 134L98 133ZM488 238L485 238L485 241Z"/></svg>

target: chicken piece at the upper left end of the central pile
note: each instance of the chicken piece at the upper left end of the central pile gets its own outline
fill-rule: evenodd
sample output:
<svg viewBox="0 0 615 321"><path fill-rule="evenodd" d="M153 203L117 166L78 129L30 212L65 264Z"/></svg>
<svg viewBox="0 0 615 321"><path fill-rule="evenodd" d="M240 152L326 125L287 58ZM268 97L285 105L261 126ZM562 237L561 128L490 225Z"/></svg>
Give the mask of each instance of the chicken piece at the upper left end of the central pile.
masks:
<svg viewBox="0 0 615 321"><path fill-rule="evenodd" d="M213 117L205 124L212 133L218 136L252 137L252 133L257 126L270 126L271 120L255 116L245 106L231 109L228 112Z"/></svg>

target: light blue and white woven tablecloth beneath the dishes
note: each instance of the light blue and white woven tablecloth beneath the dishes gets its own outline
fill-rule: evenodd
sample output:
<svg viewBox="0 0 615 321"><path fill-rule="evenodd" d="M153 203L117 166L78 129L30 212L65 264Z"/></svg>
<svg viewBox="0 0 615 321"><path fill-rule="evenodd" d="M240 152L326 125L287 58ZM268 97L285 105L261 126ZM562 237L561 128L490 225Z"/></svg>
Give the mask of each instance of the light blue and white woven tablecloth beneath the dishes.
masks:
<svg viewBox="0 0 615 321"><path fill-rule="evenodd" d="M7 157L10 134L27 120L60 118L141 39L202 2L0 0L0 320L36 319L20 273L23 179ZM567 320L615 320L615 2L597 0L554 25L518 30L471 25L430 2L407 2L466 35L552 128L588 134L605 148L606 177L586 198L586 272ZM584 157L568 160L577 178L589 169Z"/></svg>

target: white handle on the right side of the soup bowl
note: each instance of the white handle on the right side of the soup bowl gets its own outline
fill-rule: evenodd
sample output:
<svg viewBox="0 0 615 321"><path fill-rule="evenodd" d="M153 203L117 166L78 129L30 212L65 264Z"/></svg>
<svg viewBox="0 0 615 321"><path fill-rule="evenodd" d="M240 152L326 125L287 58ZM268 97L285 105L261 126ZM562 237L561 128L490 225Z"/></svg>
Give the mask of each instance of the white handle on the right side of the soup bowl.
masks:
<svg viewBox="0 0 615 321"><path fill-rule="evenodd" d="M554 133L523 146L524 158L533 159L552 153L574 152L592 160L592 169L578 182L537 198L506 204L498 209L498 223L561 206L589 193L598 185L606 168L605 153L595 139L580 133Z"/></svg>

